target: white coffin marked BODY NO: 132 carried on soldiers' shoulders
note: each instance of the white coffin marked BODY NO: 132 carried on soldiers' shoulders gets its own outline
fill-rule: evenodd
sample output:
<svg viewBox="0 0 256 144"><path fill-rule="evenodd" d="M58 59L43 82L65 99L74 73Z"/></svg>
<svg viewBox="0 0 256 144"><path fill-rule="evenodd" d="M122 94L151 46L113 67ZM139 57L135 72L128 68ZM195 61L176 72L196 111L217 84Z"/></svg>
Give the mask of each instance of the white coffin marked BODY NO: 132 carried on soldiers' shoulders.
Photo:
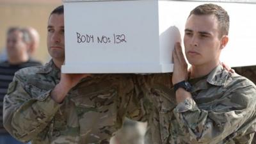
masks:
<svg viewBox="0 0 256 144"><path fill-rule="evenodd" d="M231 1L229 1L231 2ZM230 42L221 60L232 67L256 65L256 4L220 4L230 14ZM63 0L63 73L172 72L177 29L182 37L189 12L210 1Z"/></svg>

